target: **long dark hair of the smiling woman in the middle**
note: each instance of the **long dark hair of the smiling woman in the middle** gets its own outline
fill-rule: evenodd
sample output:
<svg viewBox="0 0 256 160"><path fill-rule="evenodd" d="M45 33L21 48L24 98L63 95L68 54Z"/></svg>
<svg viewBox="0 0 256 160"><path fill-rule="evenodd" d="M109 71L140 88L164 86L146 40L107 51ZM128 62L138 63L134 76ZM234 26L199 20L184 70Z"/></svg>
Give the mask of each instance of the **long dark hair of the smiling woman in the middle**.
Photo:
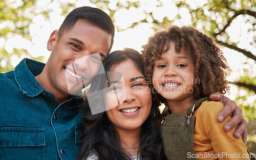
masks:
<svg viewBox="0 0 256 160"><path fill-rule="evenodd" d="M136 64L137 70L143 74L142 56L133 49L124 49L109 54L103 62L105 71L108 72L114 64L129 59ZM94 84L92 83L92 85ZM138 155L141 156L141 159L165 159L158 125L160 120L159 105L159 103L154 103L153 101L150 115L142 124L140 146L138 149ZM99 159L126 160L130 159L131 156L120 147L118 133L112 126L106 113L101 112L92 115L88 103L85 102L83 105L81 147L78 159L86 159L92 150L97 153Z"/></svg>

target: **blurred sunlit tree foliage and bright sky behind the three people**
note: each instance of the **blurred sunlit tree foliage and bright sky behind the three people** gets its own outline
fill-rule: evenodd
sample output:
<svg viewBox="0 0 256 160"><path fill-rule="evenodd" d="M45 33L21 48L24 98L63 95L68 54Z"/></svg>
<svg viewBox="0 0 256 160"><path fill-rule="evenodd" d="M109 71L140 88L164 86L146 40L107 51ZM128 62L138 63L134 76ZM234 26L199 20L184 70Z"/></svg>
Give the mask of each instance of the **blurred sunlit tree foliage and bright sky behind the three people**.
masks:
<svg viewBox="0 0 256 160"><path fill-rule="evenodd" d="M148 28L152 29L152 32L146 35L148 37L155 30L160 29L162 24L193 26L216 39L224 54L228 56L226 57L228 62L231 61L230 57L243 59L237 66L236 64L233 65L233 68L230 66L231 71L227 73L227 76L233 89L230 89L227 96L236 101L237 105L243 109L243 115L248 122L247 146L251 152L256 153L255 1L1 0L0 72L12 70L16 65L14 61L24 57L46 62L49 53L35 54L35 52L42 51L42 48L46 48L48 37L44 36L46 34L50 36L50 33L61 25L63 18L72 9L80 6L91 6L104 10L112 17L116 33L124 33L146 24ZM121 12L125 16L121 15ZM53 14L59 15L61 18L52 18ZM123 17L120 18L120 16ZM44 33L44 30L47 32ZM234 35L237 38L234 38ZM36 40L42 39L42 37L45 38L43 39L44 43L35 45ZM122 38L124 39L122 43L125 46L126 38L124 36ZM132 38L140 38L140 35ZM115 39L115 43L117 43L116 41L120 40Z"/></svg>

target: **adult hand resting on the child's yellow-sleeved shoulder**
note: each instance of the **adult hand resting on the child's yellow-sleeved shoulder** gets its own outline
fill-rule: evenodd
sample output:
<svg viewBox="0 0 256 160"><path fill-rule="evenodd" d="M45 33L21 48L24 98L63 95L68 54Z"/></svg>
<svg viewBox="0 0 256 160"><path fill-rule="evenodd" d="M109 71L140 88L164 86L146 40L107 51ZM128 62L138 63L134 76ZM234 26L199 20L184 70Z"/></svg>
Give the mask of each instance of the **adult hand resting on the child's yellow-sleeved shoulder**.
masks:
<svg viewBox="0 0 256 160"><path fill-rule="evenodd" d="M242 109L237 106L236 102L230 100L229 98L221 95L219 92L214 92L210 95L210 100L221 101L224 104L224 108L218 115L218 121L222 122L230 113L232 113L231 119L224 125L223 130L228 132L234 126L237 126L236 131L234 131L234 138L239 139L242 135L243 142L246 144L247 139L247 122L244 120L242 115ZM242 133L242 134L241 134Z"/></svg>

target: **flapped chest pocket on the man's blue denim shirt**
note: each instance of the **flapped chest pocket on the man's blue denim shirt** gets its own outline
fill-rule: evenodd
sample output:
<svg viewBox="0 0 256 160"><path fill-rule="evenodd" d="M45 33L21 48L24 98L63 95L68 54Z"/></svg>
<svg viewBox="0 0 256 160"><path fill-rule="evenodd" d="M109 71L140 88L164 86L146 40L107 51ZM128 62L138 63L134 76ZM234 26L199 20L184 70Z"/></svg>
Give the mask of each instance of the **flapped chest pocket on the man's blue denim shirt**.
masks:
<svg viewBox="0 0 256 160"><path fill-rule="evenodd" d="M0 127L0 159L44 159L42 128Z"/></svg>

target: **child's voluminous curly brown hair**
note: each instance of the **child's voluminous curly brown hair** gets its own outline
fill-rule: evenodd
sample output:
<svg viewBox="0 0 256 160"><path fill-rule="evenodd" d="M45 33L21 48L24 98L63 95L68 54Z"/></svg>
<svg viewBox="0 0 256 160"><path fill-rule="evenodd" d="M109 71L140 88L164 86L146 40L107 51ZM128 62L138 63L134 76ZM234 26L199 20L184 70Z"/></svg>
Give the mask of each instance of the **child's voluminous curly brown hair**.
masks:
<svg viewBox="0 0 256 160"><path fill-rule="evenodd" d="M148 39L147 44L142 46L146 78L152 79L155 61L169 49L170 41L175 42L176 52L180 52L184 47L194 62L195 80L197 80L194 88L196 99L208 97L216 91L226 93L229 88L224 72L224 69L228 69L226 59L210 37L193 27L171 26L156 32ZM150 85L153 87L152 82ZM160 95L159 101L166 104L166 100Z"/></svg>

